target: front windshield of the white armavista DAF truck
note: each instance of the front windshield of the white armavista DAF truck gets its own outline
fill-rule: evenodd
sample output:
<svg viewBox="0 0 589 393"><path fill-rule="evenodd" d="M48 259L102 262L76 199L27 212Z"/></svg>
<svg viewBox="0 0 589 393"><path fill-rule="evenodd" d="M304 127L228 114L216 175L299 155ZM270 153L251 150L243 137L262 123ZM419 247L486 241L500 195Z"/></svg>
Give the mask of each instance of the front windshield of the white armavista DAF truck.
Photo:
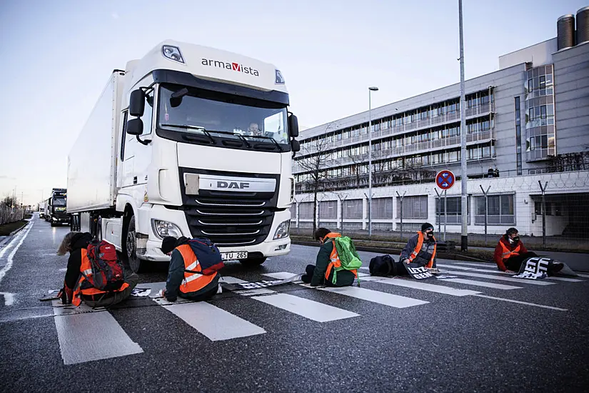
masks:
<svg viewBox="0 0 589 393"><path fill-rule="evenodd" d="M243 141L254 149L256 146L263 150L290 149L287 112L282 104L192 88L184 90L180 99L172 97L182 89L186 88L161 86L160 129L204 136L203 141L212 137Z"/></svg>

